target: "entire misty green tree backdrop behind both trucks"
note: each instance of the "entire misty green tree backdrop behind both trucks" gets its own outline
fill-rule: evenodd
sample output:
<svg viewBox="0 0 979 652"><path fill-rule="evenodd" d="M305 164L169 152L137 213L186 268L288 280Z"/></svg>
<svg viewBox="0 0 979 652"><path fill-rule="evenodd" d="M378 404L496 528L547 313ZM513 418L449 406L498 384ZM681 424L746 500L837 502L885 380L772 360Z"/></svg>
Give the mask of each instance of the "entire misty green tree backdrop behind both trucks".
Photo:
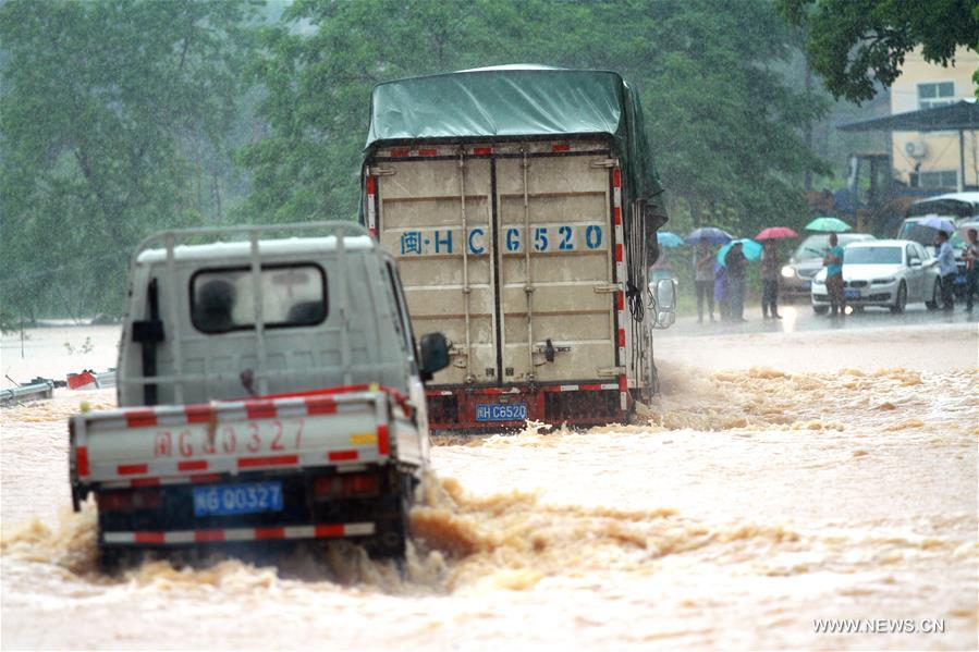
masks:
<svg viewBox="0 0 979 652"><path fill-rule="evenodd" d="M803 180L825 171L803 137L825 103L788 83L799 40L770 0L295 0L269 22L278 9L0 3L5 311L118 310L126 257L160 227L353 218L371 87L409 75L621 72L675 230L799 225ZM231 183L232 149L247 200L229 211L208 188Z"/></svg>

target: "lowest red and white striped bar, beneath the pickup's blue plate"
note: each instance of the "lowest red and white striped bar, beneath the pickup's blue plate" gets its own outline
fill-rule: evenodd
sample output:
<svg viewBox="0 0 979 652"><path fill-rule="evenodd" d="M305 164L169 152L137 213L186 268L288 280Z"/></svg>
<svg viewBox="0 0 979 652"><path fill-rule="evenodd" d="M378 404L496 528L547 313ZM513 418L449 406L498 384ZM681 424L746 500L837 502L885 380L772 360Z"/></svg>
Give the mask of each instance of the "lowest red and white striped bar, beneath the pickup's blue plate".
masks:
<svg viewBox="0 0 979 652"><path fill-rule="evenodd" d="M222 528L217 530L173 530L168 532L102 532L102 541L109 544L181 545L186 543L219 543L222 541L281 541L290 539L369 537L374 532L375 526L372 522L347 522L266 528Z"/></svg>

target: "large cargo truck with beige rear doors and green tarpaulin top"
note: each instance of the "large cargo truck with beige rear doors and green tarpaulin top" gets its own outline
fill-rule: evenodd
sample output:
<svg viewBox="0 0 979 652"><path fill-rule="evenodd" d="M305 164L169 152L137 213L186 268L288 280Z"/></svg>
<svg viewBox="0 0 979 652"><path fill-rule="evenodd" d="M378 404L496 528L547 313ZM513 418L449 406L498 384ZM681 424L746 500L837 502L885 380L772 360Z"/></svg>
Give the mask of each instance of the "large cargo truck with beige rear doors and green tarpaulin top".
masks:
<svg viewBox="0 0 979 652"><path fill-rule="evenodd" d="M503 66L380 84L362 222L399 262L416 330L448 336L438 430L623 422L657 389L648 290L666 221L620 75Z"/></svg>

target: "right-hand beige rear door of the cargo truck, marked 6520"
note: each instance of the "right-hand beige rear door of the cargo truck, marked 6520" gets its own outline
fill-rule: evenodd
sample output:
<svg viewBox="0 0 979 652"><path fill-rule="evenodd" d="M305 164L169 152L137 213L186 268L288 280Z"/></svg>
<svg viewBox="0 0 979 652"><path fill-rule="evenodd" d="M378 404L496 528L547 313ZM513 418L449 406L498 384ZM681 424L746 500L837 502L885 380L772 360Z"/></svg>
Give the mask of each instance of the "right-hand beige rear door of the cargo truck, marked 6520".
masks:
<svg viewBox="0 0 979 652"><path fill-rule="evenodd" d="M503 382L616 374L605 162L529 153L497 161Z"/></svg>

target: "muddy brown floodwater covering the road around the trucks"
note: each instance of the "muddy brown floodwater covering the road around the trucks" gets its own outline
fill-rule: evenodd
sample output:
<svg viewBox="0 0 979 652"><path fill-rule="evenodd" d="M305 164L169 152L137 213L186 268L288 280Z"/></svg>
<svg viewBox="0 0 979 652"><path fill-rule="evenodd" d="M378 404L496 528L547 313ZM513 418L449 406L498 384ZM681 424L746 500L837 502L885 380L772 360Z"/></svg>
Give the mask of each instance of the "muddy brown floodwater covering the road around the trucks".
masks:
<svg viewBox="0 0 979 652"><path fill-rule="evenodd" d="M32 333L66 371L59 337ZM68 510L64 423L112 391L5 409L2 645L979 647L974 324L671 336L658 355L663 394L636 423L437 446L403 574L338 544L103 577L91 505ZM816 631L835 618L917 631Z"/></svg>

